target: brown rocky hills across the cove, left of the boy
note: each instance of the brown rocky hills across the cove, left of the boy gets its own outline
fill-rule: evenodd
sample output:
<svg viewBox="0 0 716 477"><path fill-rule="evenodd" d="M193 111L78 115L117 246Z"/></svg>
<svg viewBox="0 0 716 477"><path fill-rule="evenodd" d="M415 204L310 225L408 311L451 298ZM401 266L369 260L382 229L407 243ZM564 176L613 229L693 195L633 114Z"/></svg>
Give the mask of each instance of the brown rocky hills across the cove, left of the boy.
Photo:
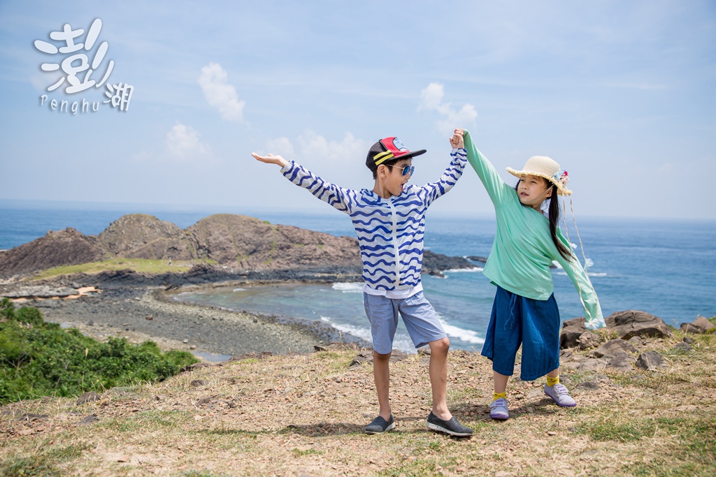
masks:
<svg viewBox="0 0 716 477"><path fill-rule="evenodd" d="M0 252L0 276L115 257L150 260L213 260L237 270L359 267L358 242L243 215L212 215L184 230L151 215L132 214L100 235L74 229Z"/></svg>

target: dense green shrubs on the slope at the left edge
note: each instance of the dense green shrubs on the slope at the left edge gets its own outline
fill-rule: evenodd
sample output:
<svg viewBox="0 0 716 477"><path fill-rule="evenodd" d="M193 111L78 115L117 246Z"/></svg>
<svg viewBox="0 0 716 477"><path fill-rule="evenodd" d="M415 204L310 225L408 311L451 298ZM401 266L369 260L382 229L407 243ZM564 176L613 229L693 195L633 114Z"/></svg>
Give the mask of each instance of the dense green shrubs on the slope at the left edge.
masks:
<svg viewBox="0 0 716 477"><path fill-rule="evenodd" d="M44 323L37 308L13 310L11 315L14 319L0 323L0 404L154 382L197 361L185 351L163 353L152 341L132 345L124 338L110 338L100 343L78 330Z"/></svg>

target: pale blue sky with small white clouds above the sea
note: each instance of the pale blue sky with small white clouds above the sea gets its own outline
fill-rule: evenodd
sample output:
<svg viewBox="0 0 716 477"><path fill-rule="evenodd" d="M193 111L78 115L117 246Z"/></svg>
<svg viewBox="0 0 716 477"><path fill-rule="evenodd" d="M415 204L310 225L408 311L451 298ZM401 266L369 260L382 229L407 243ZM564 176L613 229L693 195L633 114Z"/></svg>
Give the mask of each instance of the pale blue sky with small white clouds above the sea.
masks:
<svg viewBox="0 0 716 477"><path fill-rule="evenodd" d="M0 0L0 19L0 200L330 213L251 152L372 189L367 151L397 136L427 149L422 185L462 127L508 182L555 159L577 215L716 220L712 0ZM493 206L468 166L430 213Z"/></svg>

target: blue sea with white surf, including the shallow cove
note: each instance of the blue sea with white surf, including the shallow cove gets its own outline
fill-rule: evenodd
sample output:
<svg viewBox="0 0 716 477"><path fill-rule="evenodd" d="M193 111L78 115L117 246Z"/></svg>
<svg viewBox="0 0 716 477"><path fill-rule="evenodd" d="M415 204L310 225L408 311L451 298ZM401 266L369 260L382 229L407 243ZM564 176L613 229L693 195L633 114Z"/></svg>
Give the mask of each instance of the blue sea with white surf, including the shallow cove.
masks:
<svg viewBox="0 0 716 477"><path fill-rule="evenodd" d="M32 241L47 230L65 227L97 235L127 213L155 215L182 228L215 213L236 213L273 224L354 235L349 217L327 206L326 209L325 214L309 215L239 207L0 200L0 250ZM579 244L571 216L568 225L571 242ZM615 311L644 310L678 327L698 315L716 315L716 222L577 217L577 225L586 258L594 262L589 275L605 317ZM494 217L445 217L430 215L429 211L425 248L445 255L487 256L494 234ZM576 253L584 262L579 248ZM583 316L579 296L566 273L553 270L553 280L562 319ZM495 293L480 267L449 270L444 278L424 275L423 286L450 336L452 348L479 350ZM178 300L321 320L343 333L369 340L361 287L361 283L226 287L183 293ZM414 350L402 325L395 347Z"/></svg>

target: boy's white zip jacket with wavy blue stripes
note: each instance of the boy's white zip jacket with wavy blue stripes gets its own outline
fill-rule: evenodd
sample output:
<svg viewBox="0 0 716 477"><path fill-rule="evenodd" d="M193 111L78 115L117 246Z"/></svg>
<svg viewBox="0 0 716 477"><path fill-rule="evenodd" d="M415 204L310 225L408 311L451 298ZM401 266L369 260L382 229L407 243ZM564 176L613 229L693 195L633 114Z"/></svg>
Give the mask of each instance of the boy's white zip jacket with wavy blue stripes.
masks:
<svg viewBox="0 0 716 477"><path fill-rule="evenodd" d="M448 192L467 164L465 149L453 149L450 165L437 182L422 187L405 185L390 199L372 190L343 189L326 182L305 167L289 162L281 173L320 200L347 213L358 236L363 280L372 294L422 288L422 246L425 211L433 200Z"/></svg>

